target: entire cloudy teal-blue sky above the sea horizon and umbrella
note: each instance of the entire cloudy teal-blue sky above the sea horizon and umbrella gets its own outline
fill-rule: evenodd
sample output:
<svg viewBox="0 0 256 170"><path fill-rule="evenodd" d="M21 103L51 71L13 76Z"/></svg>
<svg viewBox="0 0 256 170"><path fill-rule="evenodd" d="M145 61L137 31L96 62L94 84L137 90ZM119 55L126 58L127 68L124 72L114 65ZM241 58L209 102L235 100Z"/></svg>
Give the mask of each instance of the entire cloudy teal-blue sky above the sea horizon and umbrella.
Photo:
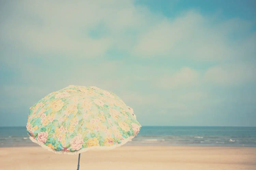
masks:
<svg viewBox="0 0 256 170"><path fill-rule="evenodd" d="M0 1L0 126L68 85L142 126L256 126L256 2Z"/></svg>

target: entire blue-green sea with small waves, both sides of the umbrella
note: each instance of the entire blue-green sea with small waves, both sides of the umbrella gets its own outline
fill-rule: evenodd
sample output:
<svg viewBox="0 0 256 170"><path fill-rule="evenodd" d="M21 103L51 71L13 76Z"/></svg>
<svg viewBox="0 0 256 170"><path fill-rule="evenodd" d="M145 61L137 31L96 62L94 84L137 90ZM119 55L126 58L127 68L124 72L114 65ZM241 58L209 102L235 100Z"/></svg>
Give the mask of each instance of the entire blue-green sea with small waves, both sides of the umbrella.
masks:
<svg viewBox="0 0 256 170"><path fill-rule="evenodd" d="M0 127L0 147L38 146L26 127ZM256 127L143 126L125 146L256 147Z"/></svg>

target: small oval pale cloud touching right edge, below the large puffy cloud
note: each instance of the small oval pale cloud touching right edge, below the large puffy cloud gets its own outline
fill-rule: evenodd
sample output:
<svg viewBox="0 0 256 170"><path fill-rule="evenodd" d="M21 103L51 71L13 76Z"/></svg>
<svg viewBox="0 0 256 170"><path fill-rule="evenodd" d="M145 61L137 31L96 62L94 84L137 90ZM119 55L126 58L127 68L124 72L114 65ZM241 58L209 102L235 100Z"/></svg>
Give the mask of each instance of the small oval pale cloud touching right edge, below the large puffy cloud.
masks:
<svg viewBox="0 0 256 170"><path fill-rule="evenodd" d="M237 86L256 81L256 66L250 63L219 65L204 74L205 82L220 86Z"/></svg>

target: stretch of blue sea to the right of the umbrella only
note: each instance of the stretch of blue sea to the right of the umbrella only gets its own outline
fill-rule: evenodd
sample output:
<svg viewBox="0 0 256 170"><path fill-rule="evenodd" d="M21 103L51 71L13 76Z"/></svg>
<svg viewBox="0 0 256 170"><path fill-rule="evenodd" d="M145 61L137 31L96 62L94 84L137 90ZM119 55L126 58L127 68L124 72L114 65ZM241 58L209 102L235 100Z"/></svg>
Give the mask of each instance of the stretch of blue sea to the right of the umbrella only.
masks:
<svg viewBox="0 0 256 170"><path fill-rule="evenodd" d="M256 127L144 126L126 145L256 147Z"/></svg>

